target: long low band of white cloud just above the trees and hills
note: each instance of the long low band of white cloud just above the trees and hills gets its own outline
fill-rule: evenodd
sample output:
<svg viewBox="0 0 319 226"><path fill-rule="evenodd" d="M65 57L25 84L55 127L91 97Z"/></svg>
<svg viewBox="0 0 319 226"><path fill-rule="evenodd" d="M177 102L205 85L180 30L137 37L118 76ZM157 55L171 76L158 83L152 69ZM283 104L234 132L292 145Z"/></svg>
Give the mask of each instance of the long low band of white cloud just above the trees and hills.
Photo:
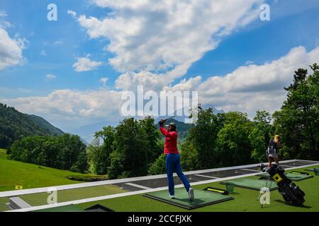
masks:
<svg viewBox="0 0 319 226"><path fill-rule="evenodd" d="M125 73L118 78L117 85L130 88L130 79L139 78L145 92L154 90L198 90L199 101L225 111L239 110L253 117L257 109L274 112L280 109L286 99L284 87L293 80L298 68L319 62L319 47L307 52L304 47L296 47L286 56L262 65L241 66L225 76L213 76L202 81L201 76L182 79L176 85L169 85L165 76L152 73ZM106 79L103 79L106 81ZM103 82L101 80L101 82ZM154 82L155 81L155 82ZM158 87L154 84L160 83ZM161 88L162 87L162 88ZM107 90L55 90L44 97L21 97L0 100L16 107L21 112L38 114L65 128L80 124L92 124L97 119L117 121L124 91ZM70 123L72 121L72 123Z"/></svg>

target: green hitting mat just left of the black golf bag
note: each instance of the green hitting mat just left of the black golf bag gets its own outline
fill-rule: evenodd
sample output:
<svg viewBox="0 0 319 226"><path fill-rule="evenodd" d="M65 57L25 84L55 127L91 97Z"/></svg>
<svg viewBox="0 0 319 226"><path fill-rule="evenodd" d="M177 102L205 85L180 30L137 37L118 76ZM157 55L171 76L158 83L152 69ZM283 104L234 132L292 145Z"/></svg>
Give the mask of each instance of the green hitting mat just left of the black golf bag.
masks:
<svg viewBox="0 0 319 226"><path fill-rule="evenodd" d="M262 187L266 185L266 180L262 179L249 179L249 178L238 178L238 179L233 179L230 181L225 181L225 182L220 182L220 184L235 184L235 186L244 188L244 189L252 189L252 190L257 190L259 191ZM268 183L268 186L270 191L274 191L278 189L278 186L272 182Z"/></svg>

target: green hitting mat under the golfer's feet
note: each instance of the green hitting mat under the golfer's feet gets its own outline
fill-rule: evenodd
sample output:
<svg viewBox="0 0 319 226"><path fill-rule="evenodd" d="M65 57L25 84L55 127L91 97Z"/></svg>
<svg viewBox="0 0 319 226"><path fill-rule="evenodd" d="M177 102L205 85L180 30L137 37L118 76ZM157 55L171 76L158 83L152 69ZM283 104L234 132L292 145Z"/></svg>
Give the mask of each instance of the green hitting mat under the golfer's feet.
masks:
<svg viewBox="0 0 319 226"><path fill-rule="evenodd" d="M210 191L194 189L194 201L189 201L189 194L187 194L184 188L175 189L175 198L169 198L167 190L152 192L150 194L144 194L143 196L153 198L164 203L169 203L174 206L179 206L187 210L234 199L230 196L223 196L222 194L215 194Z"/></svg>

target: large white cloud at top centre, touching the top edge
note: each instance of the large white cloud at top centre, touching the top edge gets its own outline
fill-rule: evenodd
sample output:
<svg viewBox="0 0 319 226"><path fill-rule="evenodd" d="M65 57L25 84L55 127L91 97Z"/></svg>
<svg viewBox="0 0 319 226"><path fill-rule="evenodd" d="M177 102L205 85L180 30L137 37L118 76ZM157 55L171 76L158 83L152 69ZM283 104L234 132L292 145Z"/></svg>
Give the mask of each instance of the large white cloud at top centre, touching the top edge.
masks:
<svg viewBox="0 0 319 226"><path fill-rule="evenodd" d="M257 18L259 0L91 0L113 10L106 18L79 16L91 38L110 40L110 63L123 73L169 71L174 78L215 49L224 35Z"/></svg>

